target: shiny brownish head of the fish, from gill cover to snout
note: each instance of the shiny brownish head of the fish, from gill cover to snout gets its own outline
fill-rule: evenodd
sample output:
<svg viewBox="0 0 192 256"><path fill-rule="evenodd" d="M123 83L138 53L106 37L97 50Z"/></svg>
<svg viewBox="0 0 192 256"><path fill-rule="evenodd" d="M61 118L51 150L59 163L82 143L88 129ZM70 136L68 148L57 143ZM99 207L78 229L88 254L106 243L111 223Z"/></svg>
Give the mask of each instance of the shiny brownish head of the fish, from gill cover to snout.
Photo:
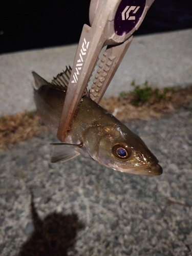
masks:
<svg viewBox="0 0 192 256"><path fill-rule="evenodd" d="M162 174L157 158L142 139L124 124L94 126L87 136L87 150L100 164L123 173L146 176Z"/></svg>

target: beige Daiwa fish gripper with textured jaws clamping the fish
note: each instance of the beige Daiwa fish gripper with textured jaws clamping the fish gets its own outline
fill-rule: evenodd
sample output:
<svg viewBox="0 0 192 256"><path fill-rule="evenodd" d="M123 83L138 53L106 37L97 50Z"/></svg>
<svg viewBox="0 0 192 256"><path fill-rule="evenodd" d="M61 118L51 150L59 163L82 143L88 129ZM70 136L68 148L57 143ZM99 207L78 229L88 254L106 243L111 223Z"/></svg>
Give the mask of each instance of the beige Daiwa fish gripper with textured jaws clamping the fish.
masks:
<svg viewBox="0 0 192 256"><path fill-rule="evenodd" d="M103 52L90 97L99 103L154 0L91 0L89 19L84 25L62 109L57 137L65 141L71 121L84 94L92 72Z"/></svg>

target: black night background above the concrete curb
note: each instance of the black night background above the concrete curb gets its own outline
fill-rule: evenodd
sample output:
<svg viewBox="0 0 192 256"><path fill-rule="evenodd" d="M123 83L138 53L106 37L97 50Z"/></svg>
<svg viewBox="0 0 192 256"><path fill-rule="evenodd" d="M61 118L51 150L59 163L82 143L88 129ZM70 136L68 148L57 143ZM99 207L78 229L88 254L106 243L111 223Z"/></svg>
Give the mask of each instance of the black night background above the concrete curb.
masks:
<svg viewBox="0 0 192 256"><path fill-rule="evenodd" d="M78 42L90 0L4 0L0 53ZM155 0L135 35L192 27L192 1Z"/></svg>

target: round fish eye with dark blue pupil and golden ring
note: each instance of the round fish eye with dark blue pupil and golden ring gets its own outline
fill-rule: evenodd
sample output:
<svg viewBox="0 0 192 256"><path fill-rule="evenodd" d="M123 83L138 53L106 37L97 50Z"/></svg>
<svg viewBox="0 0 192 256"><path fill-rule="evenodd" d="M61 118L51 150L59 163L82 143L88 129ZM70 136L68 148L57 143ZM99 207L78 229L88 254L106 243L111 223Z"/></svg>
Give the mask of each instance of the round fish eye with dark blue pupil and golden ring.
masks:
<svg viewBox="0 0 192 256"><path fill-rule="evenodd" d="M115 158L118 160L127 160L131 156L130 148L127 145L124 144L116 144L112 148L112 154Z"/></svg>

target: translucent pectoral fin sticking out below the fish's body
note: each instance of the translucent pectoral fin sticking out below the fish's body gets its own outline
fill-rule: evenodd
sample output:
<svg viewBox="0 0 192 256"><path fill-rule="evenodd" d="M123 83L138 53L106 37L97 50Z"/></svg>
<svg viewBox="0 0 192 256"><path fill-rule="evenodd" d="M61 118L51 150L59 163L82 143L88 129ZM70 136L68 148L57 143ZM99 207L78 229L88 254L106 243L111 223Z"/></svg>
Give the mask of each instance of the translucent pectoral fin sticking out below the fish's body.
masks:
<svg viewBox="0 0 192 256"><path fill-rule="evenodd" d="M79 155L75 147L81 147L81 144L68 144L68 143L52 143L56 145L51 156L51 162L65 162Z"/></svg>

